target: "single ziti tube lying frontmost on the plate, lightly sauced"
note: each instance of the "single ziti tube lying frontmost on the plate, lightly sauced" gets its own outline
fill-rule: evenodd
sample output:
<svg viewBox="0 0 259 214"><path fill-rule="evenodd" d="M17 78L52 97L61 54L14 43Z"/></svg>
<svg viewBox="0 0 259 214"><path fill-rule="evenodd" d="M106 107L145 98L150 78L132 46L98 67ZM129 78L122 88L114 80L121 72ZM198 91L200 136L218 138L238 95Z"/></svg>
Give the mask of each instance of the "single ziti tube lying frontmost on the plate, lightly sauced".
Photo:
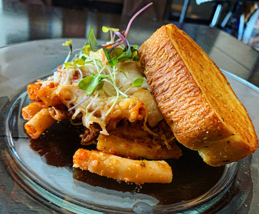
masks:
<svg viewBox="0 0 259 214"><path fill-rule="evenodd" d="M78 149L74 167L108 178L134 183L171 183L173 173L165 161L132 160L99 151Z"/></svg>

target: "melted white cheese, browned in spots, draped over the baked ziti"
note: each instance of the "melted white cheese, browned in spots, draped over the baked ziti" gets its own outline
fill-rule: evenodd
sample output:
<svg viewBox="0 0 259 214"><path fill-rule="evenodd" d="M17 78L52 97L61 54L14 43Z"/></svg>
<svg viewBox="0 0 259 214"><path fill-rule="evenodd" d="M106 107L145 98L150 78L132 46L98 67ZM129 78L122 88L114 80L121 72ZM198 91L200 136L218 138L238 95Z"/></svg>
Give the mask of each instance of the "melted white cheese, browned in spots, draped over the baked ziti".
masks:
<svg viewBox="0 0 259 214"><path fill-rule="evenodd" d="M94 59L100 61L102 64L107 64L103 50L91 52L90 55L94 57ZM155 126L160 120L163 119L163 117L159 108L156 106L153 96L150 93L149 85L147 84L146 78L143 76L139 62L124 61L118 63L117 66L119 69L116 71L115 75L116 86L121 90L121 92L125 92L132 85L136 78L143 78L144 81L142 86L140 88L131 88L128 90L126 94L129 97L125 99L128 99L127 102L131 104L135 102L134 105L136 105L137 100L146 106L145 114L148 114L147 122L150 126ZM88 63L79 68L83 74L83 78L89 76L90 73L97 74L98 72L97 66L94 63ZM77 71L75 68L69 67L63 71L54 72L53 76L49 78L49 81L54 81L58 84L58 87L55 90L55 95L60 97L62 102L68 108L77 105L87 97L86 91L78 88L79 80L75 78L76 72ZM121 103L125 103L125 101L123 101L124 98L120 98L116 103L117 108L115 105L114 109L112 109L111 112L106 115L108 109L112 106L116 98L117 93L114 87L108 82L105 82L103 89L98 91L98 96L94 92L94 94L85 102L75 107L72 119L82 117L83 124L87 128L91 128L90 126L94 122L99 123L102 128L101 134L108 135L106 131L107 123L110 120L115 120L115 118L113 118L116 117L114 111L118 109L121 110L119 106ZM130 104L127 107L130 107ZM139 111L139 109L137 109L134 114L138 114L139 112L137 111ZM127 114L125 113L125 115ZM122 118L129 119L126 117L128 117L128 115ZM146 116L144 116L144 118L146 118Z"/></svg>

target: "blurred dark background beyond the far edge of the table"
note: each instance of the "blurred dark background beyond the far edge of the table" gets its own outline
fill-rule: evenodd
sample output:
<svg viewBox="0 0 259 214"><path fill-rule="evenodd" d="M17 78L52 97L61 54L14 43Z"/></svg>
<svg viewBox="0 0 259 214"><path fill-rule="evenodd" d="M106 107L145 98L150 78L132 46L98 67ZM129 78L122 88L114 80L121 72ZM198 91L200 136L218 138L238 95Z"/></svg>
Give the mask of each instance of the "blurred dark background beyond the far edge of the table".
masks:
<svg viewBox="0 0 259 214"><path fill-rule="evenodd" d="M0 0L37 5L134 15L139 8L154 3L143 16L154 21L196 23L219 28L259 51L259 1L254 0ZM35 20L35 21L34 21ZM33 22L37 19L34 17ZM64 29L63 29L64 30ZM82 35L84 37L85 35Z"/></svg>

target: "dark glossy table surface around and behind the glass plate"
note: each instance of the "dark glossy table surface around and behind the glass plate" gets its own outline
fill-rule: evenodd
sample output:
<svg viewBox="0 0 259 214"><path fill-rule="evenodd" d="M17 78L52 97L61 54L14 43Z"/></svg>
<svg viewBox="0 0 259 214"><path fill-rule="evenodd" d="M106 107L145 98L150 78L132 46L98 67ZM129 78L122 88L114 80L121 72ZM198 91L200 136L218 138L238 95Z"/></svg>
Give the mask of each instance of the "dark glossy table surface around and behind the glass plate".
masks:
<svg viewBox="0 0 259 214"><path fill-rule="evenodd" d="M146 17L146 15L145 15ZM0 1L0 47L22 42L56 39L86 38L90 28L100 40L107 40L102 26L125 29L130 17L96 13L86 10L57 8ZM137 17L128 34L131 44L140 45L160 26L163 20ZM173 23L186 31L211 59L222 69L229 71L259 87L259 52L244 45L236 38L217 28L204 25ZM33 59L32 59L33 60ZM5 61L0 59L0 83L10 77L4 73ZM18 66L18 65L17 65ZM22 74L21 74L22 75ZM27 83L21 84L23 87ZM6 150L4 110L21 87L0 91L0 151ZM18 185L0 155L0 213L55 213L50 207L37 202ZM32 199L33 198L33 199ZM245 205L243 205L245 207ZM61 212L62 210L58 210ZM247 211L247 210L246 210Z"/></svg>

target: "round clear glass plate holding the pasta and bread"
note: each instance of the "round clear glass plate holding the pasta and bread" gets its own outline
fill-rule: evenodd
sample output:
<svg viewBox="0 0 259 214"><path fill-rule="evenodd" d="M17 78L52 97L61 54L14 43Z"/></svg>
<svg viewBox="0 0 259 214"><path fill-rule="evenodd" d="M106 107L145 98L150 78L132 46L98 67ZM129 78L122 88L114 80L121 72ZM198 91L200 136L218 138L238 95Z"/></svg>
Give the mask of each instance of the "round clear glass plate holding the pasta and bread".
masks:
<svg viewBox="0 0 259 214"><path fill-rule="evenodd" d="M178 161L168 160L173 168L170 184L118 182L72 168L72 155L80 145L81 126L64 121L53 125L37 140L24 133L21 108L30 101L24 88L37 78L51 74L61 64L67 48L64 40L37 41L0 48L6 60L0 75L7 81L12 102L5 116L8 150L3 153L18 183L33 197L72 213L209 213L221 210L235 213L256 210L259 199L259 152L225 167L210 167L199 155L184 149ZM73 40L81 47L85 40ZM22 54L28 53L28 54ZM14 60L16 59L16 60ZM16 62L16 65L14 64ZM17 63L22 66L17 69ZM8 73L9 72L9 73ZM19 74L23 74L20 76ZM224 71L259 133L259 89ZM17 94L15 97L13 94Z"/></svg>

